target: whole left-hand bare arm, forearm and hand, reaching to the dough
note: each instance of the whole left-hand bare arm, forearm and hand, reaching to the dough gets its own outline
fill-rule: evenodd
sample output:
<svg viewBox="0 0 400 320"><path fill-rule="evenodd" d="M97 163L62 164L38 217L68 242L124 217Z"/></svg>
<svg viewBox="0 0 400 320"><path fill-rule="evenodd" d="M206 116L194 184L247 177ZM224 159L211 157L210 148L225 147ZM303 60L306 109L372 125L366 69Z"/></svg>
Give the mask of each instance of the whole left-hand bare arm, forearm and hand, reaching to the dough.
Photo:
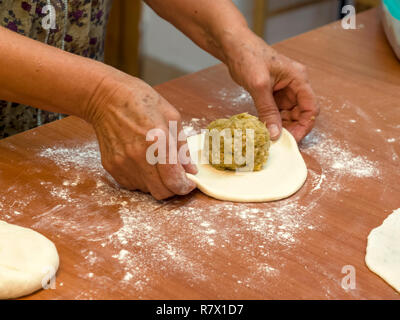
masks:
<svg viewBox="0 0 400 320"><path fill-rule="evenodd" d="M1 100L75 115L90 122L97 134L104 168L127 189L165 199L195 188L186 177L186 172L196 173L190 163L151 165L146 160L146 151L154 143L146 141L151 129L165 133L171 148L168 151L181 150L185 144L169 139L169 121L177 121L179 130L180 115L150 86L103 63L1 26L0 39ZM185 155L184 160L187 159Z"/></svg>

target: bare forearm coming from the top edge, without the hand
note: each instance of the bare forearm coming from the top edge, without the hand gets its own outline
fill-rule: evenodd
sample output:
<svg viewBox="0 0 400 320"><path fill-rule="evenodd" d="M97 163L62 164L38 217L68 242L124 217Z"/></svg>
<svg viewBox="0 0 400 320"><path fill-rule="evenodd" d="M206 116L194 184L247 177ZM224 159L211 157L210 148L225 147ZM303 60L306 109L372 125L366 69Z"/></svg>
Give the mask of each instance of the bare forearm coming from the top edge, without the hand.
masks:
<svg viewBox="0 0 400 320"><path fill-rule="evenodd" d="M202 49L227 63L230 48L251 34L246 20L230 0L146 0Z"/></svg>

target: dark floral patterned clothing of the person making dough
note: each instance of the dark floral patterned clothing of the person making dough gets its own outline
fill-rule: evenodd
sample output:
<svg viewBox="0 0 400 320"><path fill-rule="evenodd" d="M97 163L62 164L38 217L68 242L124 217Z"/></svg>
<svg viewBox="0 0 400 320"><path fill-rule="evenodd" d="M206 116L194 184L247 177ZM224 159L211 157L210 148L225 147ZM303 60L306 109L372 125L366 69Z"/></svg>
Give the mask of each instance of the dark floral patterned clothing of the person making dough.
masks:
<svg viewBox="0 0 400 320"><path fill-rule="evenodd" d="M0 26L51 46L102 61L112 0L0 0ZM43 28L49 6L52 28ZM61 118L62 115L0 100L0 139Z"/></svg>

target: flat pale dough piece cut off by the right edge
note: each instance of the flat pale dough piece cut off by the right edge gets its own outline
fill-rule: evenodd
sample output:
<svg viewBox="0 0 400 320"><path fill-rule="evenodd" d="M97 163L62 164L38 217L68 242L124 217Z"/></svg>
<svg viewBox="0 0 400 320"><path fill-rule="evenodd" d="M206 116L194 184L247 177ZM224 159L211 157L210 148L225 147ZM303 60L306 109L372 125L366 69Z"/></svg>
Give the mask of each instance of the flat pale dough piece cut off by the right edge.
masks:
<svg viewBox="0 0 400 320"><path fill-rule="evenodd" d="M365 263L400 292L400 208L368 236Z"/></svg>

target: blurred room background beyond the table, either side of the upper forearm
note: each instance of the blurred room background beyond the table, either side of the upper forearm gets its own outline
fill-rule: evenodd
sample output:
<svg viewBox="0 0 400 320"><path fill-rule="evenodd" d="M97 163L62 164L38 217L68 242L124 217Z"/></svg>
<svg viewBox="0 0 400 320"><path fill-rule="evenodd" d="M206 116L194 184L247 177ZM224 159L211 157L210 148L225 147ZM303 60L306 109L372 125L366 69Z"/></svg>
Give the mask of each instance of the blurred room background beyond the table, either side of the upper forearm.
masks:
<svg viewBox="0 0 400 320"><path fill-rule="evenodd" d="M233 0L250 27L269 44L340 18L342 6L357 13L379 0ZM151 85L218 62L140 0L114 0L106 38L106 63Z"/></svg>

